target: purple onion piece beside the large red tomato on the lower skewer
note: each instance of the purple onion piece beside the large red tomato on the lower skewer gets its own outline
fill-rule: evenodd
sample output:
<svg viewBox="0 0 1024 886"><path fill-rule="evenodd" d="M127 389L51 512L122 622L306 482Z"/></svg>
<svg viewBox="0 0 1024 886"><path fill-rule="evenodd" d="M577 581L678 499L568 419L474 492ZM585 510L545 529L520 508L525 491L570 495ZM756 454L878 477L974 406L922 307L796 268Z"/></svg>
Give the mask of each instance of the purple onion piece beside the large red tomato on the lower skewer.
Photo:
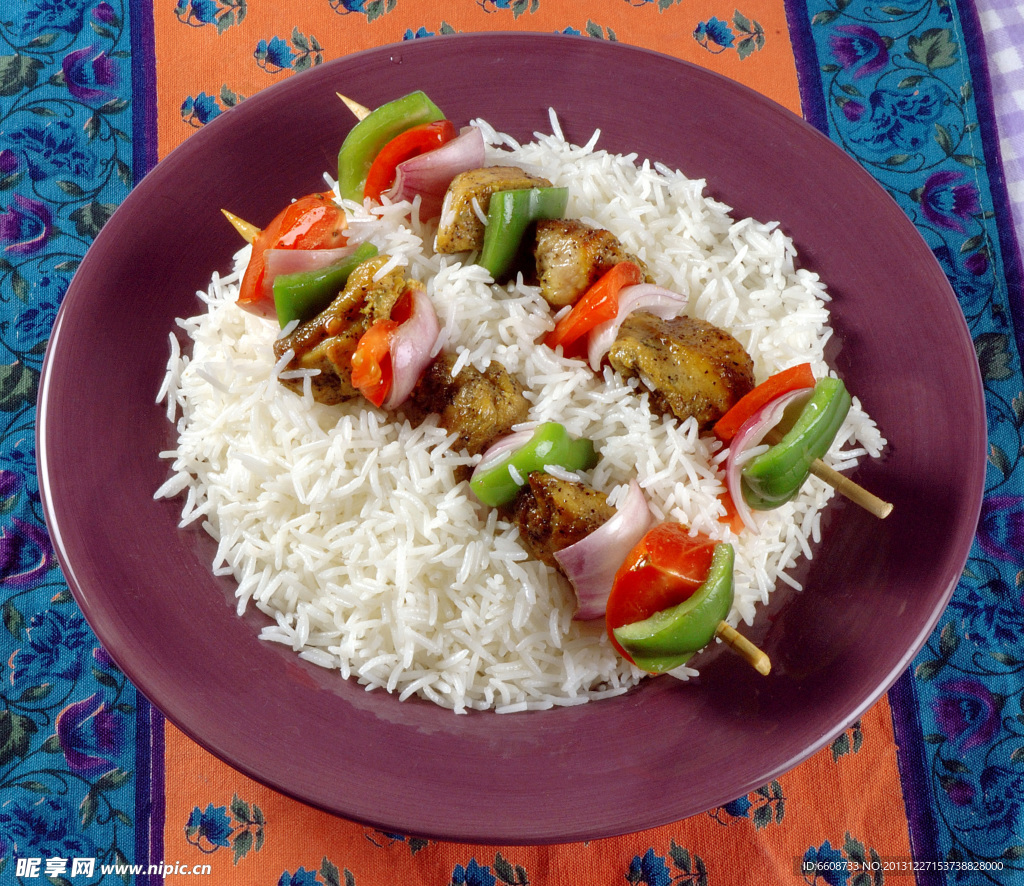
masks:
<svg viewBox="0 0 1024 886"><path fill-rule="evenodd" d="M577 592L573 619L600 619L611 593L615 573L654 521L643 490L636 480L611 518L567 548L555 551L555 560Z"/></svg>

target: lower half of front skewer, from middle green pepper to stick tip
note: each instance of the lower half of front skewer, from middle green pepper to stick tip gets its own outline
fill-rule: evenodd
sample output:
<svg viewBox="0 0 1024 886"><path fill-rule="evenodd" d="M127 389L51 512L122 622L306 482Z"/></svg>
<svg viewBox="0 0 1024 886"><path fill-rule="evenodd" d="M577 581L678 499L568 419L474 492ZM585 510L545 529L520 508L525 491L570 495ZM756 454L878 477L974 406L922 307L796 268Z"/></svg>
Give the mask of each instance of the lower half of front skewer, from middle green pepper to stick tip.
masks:
<svg viewBox="0 0 1024 886"><path fill-rule="evenodd" d="M638 668L671 671L720 636L767 674L768 657L725 621L733 601L732 545L693 537L680 523L650 528L636 482L613 508L603 493L552 473L595 462L589 440L546 422L498 440L470 489L503 510L531 554L568 579L574 618L604 618L612 644Z"/></svg>

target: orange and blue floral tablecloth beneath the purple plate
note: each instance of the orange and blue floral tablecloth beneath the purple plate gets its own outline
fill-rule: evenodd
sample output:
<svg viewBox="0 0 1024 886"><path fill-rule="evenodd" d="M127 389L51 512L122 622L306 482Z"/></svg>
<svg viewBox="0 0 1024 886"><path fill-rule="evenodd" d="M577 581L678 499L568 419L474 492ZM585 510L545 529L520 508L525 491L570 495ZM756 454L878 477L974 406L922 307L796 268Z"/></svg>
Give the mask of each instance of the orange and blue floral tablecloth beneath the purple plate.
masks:
<svg viewBox="0 0 1024 886"><path fill-rule="evenodd" d="M1024 882L1021 268L977 14L952 0L736 2L4 4L0 883ZM493 30L645 46L802 114L870 171L934 250L968 319L988 406L972 558L888 697L744 797L587 844L386 834L212 758L99 647L55 567L35 472L36 385L60 298L159 158L246 96L331 58Z"/></svg>

